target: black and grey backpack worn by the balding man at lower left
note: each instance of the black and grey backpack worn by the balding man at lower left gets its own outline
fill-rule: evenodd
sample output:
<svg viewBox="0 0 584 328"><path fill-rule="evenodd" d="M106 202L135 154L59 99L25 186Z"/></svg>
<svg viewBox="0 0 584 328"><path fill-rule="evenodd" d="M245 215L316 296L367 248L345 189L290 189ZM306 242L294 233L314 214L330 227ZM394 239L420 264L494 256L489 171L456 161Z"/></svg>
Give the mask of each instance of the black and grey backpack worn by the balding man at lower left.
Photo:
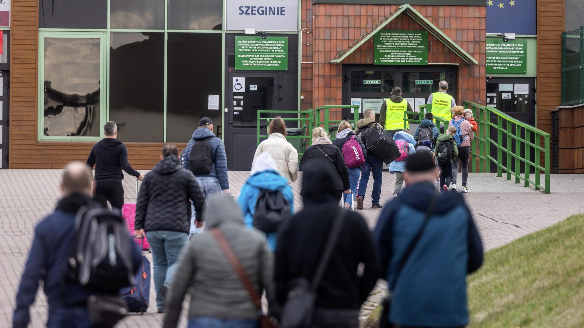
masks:
<svg viewBox="0 0 584 328"><path fill-rule="evenodd" d="M79 209L69 278L92 291L113 294L134 283L134 242L120 210Z"/></svg>

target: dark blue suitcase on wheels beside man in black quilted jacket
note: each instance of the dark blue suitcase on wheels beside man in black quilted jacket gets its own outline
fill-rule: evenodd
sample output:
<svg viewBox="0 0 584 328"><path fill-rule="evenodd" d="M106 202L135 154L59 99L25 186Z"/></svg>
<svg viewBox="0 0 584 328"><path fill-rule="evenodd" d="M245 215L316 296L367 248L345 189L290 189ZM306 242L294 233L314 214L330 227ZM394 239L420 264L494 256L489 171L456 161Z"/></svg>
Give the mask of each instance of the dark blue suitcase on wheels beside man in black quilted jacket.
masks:
<svg viewBox="0 0 584 328"><path fill-rule="evenodd" d="M142 267L134 276L134 285L120 289L121 298L128 303L130 312L144 314L150 301L150 261L142 255Z"/></svg>

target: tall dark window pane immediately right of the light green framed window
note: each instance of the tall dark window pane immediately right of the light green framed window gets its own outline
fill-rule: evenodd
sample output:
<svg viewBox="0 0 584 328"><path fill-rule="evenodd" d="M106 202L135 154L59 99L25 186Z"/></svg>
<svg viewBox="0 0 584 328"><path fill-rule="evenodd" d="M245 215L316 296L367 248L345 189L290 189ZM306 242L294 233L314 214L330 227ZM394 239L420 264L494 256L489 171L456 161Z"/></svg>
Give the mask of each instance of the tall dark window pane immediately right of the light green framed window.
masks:
<svg viewBox="0 0 584 328"><path fill-rule="evenodd" d="M121 141L162 142L164 33L112 33L110 110Z"/></svg>

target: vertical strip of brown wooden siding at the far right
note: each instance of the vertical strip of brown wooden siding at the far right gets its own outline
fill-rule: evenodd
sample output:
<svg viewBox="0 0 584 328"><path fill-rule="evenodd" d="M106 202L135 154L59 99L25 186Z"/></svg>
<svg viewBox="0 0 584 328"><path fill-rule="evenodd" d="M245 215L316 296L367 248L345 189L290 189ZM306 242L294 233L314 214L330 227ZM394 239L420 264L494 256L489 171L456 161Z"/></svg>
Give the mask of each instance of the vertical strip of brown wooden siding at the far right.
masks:
<svg viewBox="0 0 584 328"><path fill-rule="evenodd" d="M537 128L551 132L551 111L562 101L564 1L537 1Z"/></svg>

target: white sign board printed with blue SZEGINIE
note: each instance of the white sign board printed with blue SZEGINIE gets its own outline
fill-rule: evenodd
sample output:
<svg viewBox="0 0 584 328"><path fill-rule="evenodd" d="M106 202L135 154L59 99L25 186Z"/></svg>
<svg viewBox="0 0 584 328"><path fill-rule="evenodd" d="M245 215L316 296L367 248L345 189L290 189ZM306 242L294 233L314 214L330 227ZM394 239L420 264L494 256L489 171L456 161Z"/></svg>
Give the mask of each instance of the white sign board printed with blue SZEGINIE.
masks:
<svg viewBox="0 0 584 328"><path fill-rule="evenodd" d="M227 0L227 30L297 31L298 0Z"/></svg>

